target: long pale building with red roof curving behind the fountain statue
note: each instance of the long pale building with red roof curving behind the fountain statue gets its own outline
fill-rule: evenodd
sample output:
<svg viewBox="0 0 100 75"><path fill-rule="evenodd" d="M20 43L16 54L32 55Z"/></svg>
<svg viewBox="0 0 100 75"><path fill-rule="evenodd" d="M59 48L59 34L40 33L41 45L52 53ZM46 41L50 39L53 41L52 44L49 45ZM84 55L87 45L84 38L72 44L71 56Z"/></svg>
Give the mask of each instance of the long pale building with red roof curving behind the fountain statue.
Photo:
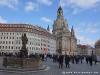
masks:
<svg viewBox="0 0 100 75"><path fill-rule="evenodd" d="M22 47L21 36L24 33L28 38L28 54L50 53L51 33L48 30L30 24L0 23L0 54L18 53Z"/></svg>

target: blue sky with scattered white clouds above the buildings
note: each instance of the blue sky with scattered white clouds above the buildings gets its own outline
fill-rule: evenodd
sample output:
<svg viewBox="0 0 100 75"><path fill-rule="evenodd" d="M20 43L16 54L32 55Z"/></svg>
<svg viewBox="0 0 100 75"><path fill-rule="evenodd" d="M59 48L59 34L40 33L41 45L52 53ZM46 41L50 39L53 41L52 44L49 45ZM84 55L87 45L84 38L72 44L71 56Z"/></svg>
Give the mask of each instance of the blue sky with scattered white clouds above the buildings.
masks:
<svg viewBox="0 0 100 75"><path fill-rule="evenodd" d="M0 23L49 25L52 32L59 6L77 43L93 47L100 39L100 0L0 0Z"/></svg>

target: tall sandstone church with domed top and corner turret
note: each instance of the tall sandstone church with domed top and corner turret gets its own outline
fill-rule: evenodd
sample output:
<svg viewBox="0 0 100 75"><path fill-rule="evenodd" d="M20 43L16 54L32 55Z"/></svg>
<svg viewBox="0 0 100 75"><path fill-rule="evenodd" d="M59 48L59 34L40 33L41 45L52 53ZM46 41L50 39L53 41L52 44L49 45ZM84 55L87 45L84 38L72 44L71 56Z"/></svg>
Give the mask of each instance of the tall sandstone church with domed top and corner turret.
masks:
<svg viewBox="0 0 100 75"><path fill-rule="evenodd" d="M69 31L61 6L57 10L57 19L54 21L52 33L56 39L57 53L77 55L77 38L75 37L73 26Z"/></svg>

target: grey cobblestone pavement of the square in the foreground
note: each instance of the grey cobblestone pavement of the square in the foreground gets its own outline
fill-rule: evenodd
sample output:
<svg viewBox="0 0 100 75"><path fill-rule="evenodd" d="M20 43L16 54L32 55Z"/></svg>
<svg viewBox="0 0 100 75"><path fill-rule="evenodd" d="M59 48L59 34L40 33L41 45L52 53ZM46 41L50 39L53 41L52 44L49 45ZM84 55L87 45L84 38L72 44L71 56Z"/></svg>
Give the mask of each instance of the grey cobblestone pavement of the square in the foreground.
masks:
<svg viewBox="0 0 100 75"><path fill-rule="evenodd" d="M0 75L100 75L100 63L92 66L86 64L85 60L83 63L72 64L70 68L65 68L65 64L62 69L59 69L58 62L53 62L52 59L48 58L48 61L43 62L48 68L38 72L4 72L0 70ZM2 66L2 57L0 57L0 67Z"/></svg>

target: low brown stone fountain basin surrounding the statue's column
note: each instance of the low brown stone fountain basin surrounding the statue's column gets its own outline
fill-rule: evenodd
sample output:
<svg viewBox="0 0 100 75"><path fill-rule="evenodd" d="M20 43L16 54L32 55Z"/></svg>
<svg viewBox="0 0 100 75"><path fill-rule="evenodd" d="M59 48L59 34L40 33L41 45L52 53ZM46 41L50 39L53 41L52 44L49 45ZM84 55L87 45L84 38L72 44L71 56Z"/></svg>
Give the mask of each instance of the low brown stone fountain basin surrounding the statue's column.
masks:
<svg viewBox="0 0 100 75"><path fill-rule="evenodd" d="M11 68L39 68L42 66L42 61L33 58L4 58L3 66Z"/></svg>

